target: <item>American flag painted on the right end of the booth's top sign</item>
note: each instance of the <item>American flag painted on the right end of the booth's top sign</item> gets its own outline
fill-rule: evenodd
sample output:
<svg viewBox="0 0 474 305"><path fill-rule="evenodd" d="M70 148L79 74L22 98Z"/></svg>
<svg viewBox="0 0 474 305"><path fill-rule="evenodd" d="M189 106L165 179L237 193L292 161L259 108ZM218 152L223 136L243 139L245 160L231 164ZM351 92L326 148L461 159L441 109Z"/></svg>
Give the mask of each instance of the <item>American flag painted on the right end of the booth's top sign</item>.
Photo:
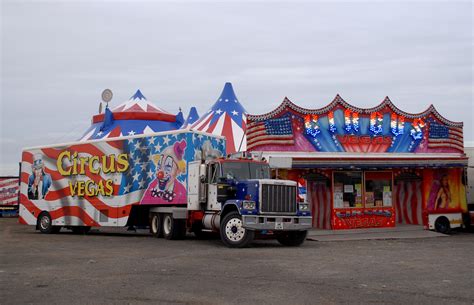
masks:
<svg viewBox="0 0 474 305"><path fill-rule="evenodd" d="M464 151L462 127L448 127L431 122L429 125L428 148L455 148Z"/></svg>

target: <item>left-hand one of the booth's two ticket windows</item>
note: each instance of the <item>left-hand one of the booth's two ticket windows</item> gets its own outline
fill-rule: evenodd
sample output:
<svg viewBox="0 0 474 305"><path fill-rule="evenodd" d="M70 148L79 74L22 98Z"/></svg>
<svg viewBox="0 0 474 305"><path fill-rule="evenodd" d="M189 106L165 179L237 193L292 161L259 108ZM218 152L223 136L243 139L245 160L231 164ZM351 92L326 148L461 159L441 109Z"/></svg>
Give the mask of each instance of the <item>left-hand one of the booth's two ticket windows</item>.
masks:
<svg viewBox="0 0 474 305"><path fill-rule="evenodd" d="M362 172L334 172L334 208L362 208Z"/></svg>

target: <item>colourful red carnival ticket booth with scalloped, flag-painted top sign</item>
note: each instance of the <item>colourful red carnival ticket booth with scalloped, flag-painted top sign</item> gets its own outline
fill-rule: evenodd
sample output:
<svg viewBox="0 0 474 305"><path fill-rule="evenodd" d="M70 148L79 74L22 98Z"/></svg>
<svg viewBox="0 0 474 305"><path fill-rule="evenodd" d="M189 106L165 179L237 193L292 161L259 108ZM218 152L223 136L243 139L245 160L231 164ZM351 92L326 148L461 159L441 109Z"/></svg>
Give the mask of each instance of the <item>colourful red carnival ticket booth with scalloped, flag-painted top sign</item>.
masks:
<svg viewBox="0 0 474 305"><path fill-rule="evenodd" d="M428 227L432 215L466 211L462 126L433 106L404 112L388 97L369 109L339 95L320 109L285 98L247 115L247 149L298 181L314 228Z"/></svg>

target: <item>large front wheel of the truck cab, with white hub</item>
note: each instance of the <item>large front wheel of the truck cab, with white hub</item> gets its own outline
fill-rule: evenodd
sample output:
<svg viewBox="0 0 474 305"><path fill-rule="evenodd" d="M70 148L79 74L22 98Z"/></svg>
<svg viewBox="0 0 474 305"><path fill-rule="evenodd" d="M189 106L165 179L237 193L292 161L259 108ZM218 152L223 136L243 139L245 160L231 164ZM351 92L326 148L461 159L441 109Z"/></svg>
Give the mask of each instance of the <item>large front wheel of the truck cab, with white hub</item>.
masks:
<svg viewBox="0 0 474 305"><path fill-rule="evenodd" d="M243 227L237 211L225 215L221 221L221 240L229 248L245 248L253 241L255 232Z"/></svg>

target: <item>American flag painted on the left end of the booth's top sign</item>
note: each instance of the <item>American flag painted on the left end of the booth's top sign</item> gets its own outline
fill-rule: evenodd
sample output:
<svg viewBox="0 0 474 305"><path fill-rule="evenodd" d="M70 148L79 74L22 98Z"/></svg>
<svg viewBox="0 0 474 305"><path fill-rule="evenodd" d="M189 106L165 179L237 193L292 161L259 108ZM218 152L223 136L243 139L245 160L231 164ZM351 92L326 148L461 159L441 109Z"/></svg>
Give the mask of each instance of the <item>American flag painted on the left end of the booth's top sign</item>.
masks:
<svg viewBox="0 0 474 305"><path fill-rule="evenodd" d="M252 122L247 126L247 149L266 144L293 145L294 135L292 120L289 115Z"/></svg>

